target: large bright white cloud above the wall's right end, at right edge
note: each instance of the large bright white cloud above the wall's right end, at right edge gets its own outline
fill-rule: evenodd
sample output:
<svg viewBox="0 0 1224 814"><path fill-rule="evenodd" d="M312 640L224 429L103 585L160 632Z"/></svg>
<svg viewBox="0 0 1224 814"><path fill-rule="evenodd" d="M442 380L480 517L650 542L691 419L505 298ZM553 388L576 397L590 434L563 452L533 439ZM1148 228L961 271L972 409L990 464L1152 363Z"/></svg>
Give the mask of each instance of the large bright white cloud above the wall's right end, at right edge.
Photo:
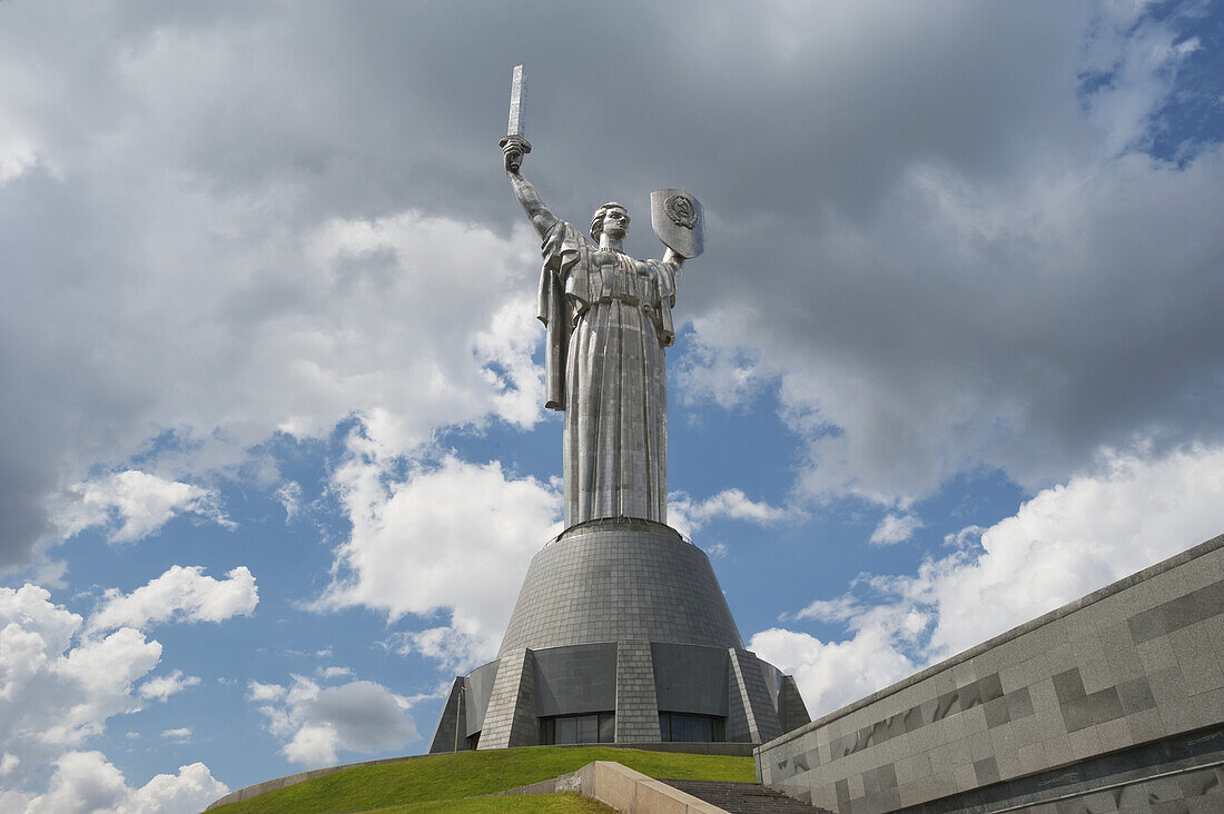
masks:
<svg viewBox="0 0 1224 814"><path fill-rule="evenodd" d="M925 564L903 590L935 608L930 651L949 656L1220 534L1220 507L1224 448L1115 455L1042 491L979 548Z"/></svg>

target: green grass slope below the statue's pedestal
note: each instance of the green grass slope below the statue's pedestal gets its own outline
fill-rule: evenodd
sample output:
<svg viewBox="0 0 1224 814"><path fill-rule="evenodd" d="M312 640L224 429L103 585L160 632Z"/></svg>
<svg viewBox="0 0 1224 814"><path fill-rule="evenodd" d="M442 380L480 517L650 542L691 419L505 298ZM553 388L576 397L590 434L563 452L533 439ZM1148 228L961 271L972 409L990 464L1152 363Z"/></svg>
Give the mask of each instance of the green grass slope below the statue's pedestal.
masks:
<svg viewBox="0 0 1224 814"><path fill-rule="evenodd" d="M416 814L417 812L460 810L546 812L550 809L540 808L541 801L545 799L540 797L526 798L525 802L535 801L536 808L534 809L512 808L521 803L504 797L488 803L464 801L455 807L442 805L442 803L536 783L580 769L592 760L614 760L650 777L745 782L756 780L756 769L752 758L610 749L607 747L575 749L523 747L488 752L460 752L377 766L356 766L213 810L217 814L271 814L273 812L334 814L337 812L367 812L371 809L389 809L397 814L399 812ZM547 798L548 804L570 805L570 808L554 809L558 814L562 812L601 810L599 808L573 808L572 805L581 801L567 802L564 798L568 796L564 794L556 797L561 799L550 797ZM435 805L411 805L417 803ZM479 808L479 805L486 804L490 808Z"/></svg>

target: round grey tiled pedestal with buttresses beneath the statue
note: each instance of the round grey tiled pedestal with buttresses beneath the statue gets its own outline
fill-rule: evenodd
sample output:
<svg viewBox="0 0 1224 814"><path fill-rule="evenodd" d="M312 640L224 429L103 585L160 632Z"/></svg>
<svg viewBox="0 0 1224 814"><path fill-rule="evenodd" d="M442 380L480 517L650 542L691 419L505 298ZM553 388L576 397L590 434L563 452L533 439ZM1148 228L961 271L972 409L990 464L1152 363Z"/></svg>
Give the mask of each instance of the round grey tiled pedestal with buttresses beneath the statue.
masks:
<svg viewBox="0 0 1224 814"><path fill-rule="evenodd" d="M532 558L497 661L455 679L430 752L764 743L808 721L794 679L744 650L705 553L619 518L574 526Z"/></svg>

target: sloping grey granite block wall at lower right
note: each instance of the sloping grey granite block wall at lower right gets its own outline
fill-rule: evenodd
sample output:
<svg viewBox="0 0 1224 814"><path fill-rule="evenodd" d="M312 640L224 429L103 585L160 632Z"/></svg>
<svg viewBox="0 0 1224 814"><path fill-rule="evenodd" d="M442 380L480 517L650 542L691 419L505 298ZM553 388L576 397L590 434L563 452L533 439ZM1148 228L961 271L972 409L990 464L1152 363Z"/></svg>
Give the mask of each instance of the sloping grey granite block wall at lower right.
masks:
<svg viewBox="0 0 1224 814"><path fill-rule="evenodd" d="M853 814L1224 812L1220 766L1224 536L758 750L765 783Z"/></svg>

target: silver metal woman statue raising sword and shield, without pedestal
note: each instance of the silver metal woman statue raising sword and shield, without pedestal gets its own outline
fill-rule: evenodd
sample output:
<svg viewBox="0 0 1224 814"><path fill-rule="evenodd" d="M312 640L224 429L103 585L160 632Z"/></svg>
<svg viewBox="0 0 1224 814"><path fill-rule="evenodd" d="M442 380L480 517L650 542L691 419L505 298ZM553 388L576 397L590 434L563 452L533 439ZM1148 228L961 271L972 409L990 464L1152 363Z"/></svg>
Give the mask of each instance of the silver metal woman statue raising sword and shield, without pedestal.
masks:
<svg viewBox="0 0 1224 814"><path fill-rule="evenodd" d="M523 177L523 69L514 70L507 175L540 234L540 321L547 328L545 405L565 411L565 524L630 517L667 521L667 375L672 307L685 258L703 250L701 207L683 190L651 196L662 260L622 251L629 213L605 203L590 239L558 219Z"/></svg>

